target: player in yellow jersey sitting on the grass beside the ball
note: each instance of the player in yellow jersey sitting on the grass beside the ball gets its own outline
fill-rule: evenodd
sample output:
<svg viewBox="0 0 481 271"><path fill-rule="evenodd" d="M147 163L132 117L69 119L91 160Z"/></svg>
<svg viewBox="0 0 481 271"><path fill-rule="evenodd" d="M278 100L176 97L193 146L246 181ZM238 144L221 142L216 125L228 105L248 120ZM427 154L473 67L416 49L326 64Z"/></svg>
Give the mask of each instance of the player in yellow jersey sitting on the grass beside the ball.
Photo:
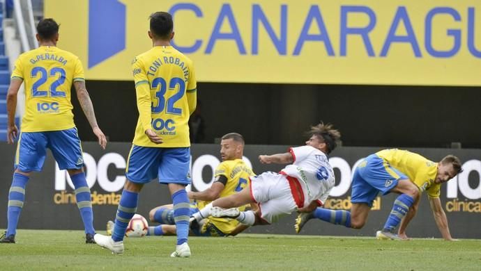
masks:
<svg viewBox="0 0 481 271"><path fill-rule="evenodd" d="M254 176L252 169L242 160L244 149L244 138L238 133L227 133L222 136L220 142L220 156L222 163L217 166L214 172L212 186L201 192L189 192L190 199L197 204L190 208L190 214L197 213L199 209L219 197L234 195L249 185L250 176ZM240 208L245 210L245 206ZM153 208L149 217L151 222L159 222L161 225L149 227L149 236L174 235L176 228L174 215L171 206L159 206ZM228 218L208 217L197 224L194 221L191 230L195 236L233 236L247 229L247 226L239 224L237 220Z"/></svg>

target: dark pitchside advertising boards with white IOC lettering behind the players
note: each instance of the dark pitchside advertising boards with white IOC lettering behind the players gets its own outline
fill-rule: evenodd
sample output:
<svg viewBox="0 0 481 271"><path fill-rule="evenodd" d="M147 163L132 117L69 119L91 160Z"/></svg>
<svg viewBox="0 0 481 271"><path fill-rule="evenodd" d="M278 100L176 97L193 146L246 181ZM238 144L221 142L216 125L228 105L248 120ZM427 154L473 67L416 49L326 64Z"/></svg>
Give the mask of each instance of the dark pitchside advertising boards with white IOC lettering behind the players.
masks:
<svg viewBox="0 0 481 271"><path fill-rule="evenodd" d="M280 165L262 165L257 156L284 152L284 145L246 145L245 160L252 165L257 174L265 171L279 171ZM119 203L121 188L125 182L123 171L130 149L129 143L111 142L105 151L101 151L96 142L84 142L84 161L86 176L91 186L94 224L98 232L105 230L105 222L112 220ZM336 186L326 207L349 209L350 181L353 168L360 158L367 156L379 147L340 147L330 157L335 167ZM461 158L464 172L459 174L441 188L441 202L448 215L450 230L455 238L481 238L481 149L410 149L432 161L439 161L446 154L455 154ZM217 145L192 146L192 179L189 189L203 190L213 181L213 169L220 163ZM0 165L3 181L0 183L0 227L6 225L6 206L10 187L10 174L13 172L15 147L0 143ZM165 186L156 181L148 183L140 195L138 213L148 216L148 211L162 204L171 203ZM369 214L364 229L351 230L336 227L320 221L312 221L303 230L303 234L333 236L373 236L380 229L392 206L394 195L379 197ZM65 172L56 168L49 154L43 172L31 176L26 188L26 200L20 218L20 229L82 229L82 222L75 205L72 184ZM292 234L295 214L284 217L280 222L270 226L254 227L250 233ZM425 195L418 215L411 222L407 233L411 237L441 237L429 202Z"/></svg>

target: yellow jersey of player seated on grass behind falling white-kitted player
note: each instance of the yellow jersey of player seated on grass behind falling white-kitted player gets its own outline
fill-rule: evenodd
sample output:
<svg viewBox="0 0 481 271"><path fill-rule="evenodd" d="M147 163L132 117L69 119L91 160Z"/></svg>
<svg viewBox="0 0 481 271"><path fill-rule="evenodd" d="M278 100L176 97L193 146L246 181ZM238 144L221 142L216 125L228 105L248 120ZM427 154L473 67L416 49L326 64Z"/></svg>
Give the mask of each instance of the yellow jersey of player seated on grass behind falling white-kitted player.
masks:
<svg viewBox="0 0 481 271"><path fill-rule="evenodd" d="M223 175L227 178L224 189L220 192L219 197L227 197L240 192L249 185L249 177L254 176L252 169L248 167L242 159L223 161L215 168L214 177ZM197 206L199 209L204 208L210 202L199 201ZM245 210L245 206L239 207L240 211ZM212 224L220 229L223 233L229 234L236 229L239 222L230 218L208 217Z"/></svg>

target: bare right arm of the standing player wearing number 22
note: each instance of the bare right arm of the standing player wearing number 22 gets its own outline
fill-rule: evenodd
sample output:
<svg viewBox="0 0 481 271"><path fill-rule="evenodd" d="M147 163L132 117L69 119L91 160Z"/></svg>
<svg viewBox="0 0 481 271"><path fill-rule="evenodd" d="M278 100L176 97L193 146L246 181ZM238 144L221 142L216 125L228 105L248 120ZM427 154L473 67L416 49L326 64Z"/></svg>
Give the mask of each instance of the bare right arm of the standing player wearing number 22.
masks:
<svg viewBox="0 0 481 271"><path fill-rule="evenodd" d="M89 120L92 131L98 138L98 144L102 147L102 149L105 149L105 146L107 146L107 138L105 138L104 133L98 127L96 113L93 111L93 104L90 99L89 92L87 92L85 88L85 82L75 81L73 85L77 91L77 98L79 99L82 110L84 110L85 117L87 120Z"/></svg>

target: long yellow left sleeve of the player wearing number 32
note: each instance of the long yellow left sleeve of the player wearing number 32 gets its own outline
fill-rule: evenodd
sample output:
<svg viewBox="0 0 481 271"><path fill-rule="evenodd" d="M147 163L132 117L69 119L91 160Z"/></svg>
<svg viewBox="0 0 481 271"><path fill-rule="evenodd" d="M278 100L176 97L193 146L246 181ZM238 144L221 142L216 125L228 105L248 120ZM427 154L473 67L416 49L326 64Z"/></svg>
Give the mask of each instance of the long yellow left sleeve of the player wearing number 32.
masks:
<svg viewBox="0 0 481 271"><path fill-rule="evenodd" d="M135 93L137 95L137 109L139 120L144 131L152 129L151 125L151 88L144 66L140 60L135 58L132 61L132 74L134 75Z"/></svg>

